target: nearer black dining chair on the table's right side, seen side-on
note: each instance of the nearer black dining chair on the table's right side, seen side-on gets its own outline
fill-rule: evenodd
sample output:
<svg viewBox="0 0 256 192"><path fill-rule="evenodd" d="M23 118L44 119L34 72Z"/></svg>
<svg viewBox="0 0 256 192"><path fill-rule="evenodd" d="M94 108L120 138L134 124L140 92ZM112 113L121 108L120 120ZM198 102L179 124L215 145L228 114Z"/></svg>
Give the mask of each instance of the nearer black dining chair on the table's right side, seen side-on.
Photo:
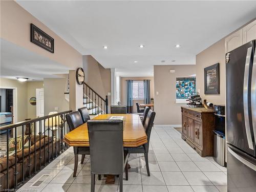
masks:
<svg viewBox="0 0 256 192"><path fill-rule="evenodd" d="M147 143L140 145L138 147L125 147L124 151L126 151L126 153L128 154L136 154L136 153L143 153L144 157L145 157L145 162L146 162L146 172L147 172L147 176L150 176L150 167L148 166L148 148L150 146L150 135L151 135L151 130L152 130L152 126L154 124L154 119L156 116L156 112L149 110L146 116L146 120L145 120L145 125L144 125L144 129L146 132L146 136L147 136ZM128 177L128 175L126 176Z"/></svg>

